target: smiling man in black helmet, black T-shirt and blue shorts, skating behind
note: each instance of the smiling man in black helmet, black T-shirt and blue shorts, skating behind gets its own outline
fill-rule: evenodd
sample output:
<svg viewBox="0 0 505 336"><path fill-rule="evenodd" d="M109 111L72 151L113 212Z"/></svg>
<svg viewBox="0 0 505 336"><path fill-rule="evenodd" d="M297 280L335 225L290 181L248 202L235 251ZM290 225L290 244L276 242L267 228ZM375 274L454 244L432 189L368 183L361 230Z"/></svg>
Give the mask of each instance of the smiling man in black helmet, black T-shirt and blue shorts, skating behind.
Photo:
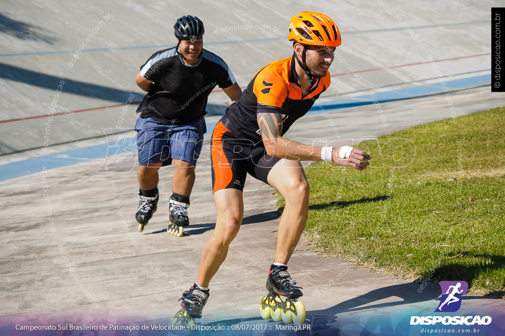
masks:
<svg viewBox="0 0 505 336"><path fill-rule="evenodd" d="M228 65L203 49L205 29L200 19L183 16L174 29L177 46L155 53L135 77L137 85L147 92L137 109L141 114L135 126L140 185L135 218L142 232L158 207L158 171L173 162L168 232L181 236L182 227L189 225L186 209L206 132L207 97L216 85L232 102L242 91Z"/></svg>

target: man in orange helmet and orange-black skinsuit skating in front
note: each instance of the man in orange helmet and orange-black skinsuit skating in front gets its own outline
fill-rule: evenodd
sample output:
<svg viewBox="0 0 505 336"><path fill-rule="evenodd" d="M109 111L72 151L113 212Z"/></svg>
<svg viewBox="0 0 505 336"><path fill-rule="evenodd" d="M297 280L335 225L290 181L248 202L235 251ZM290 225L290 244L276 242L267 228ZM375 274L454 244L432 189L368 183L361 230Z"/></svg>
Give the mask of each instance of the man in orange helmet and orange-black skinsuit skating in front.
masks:
<svg viewBox="0 0 505 336"><path fill-rule="evenodd" d="M274 321L282 318L285 323L302 323L305 307L298 301L301 287L287 271L309 209L309 184L300 161L324 160L360 171L370 165L370 155L350 146L308 146L283 137L329 87L328 68L335 48L341 44L336 24L324 14L301 12L290 23L292 57L258 71L214 129L211 157L216 228L205 243L196 281L183 293L182 309L172 323L189 325L201 317L209 298L209 283L242 223L247 173L277 189L286 201L261 315L265 319L272 316Z"/></svg>

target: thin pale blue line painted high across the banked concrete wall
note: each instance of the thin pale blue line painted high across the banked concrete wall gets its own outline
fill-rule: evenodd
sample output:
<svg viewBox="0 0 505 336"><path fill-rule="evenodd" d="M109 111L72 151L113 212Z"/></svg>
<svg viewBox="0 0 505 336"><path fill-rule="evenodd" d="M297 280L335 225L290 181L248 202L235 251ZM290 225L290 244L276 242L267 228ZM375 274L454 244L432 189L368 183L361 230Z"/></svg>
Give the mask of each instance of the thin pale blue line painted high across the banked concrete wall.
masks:
<svg viewBox="0 0 505 336"><path fill-rule="evenodd" d="M425 28L437 28L437 27L447 27L447 26L458 26L458 25L466 25L466 24L480 24L480 23L490 23L491 21L471 21L471 22L456 22L456 23L443 23L443 24L434 24L427 26L417 26L410 27L410 29L425 29ZM405 28L386 28L386 29L374 29L374 30L358 30L358 31L347 31L342 32L342 35L347 34L365 34L365 33L376 33L376 32L384 32L384 31L397 31L397 30L406 30ZM254 43L254 42L265 42L271 40L284 40L286 37L274 37L274 38L260 38L260 39L247 39L247 40L233 40L233 41L215 41L215 42L206 42L206 45L221 45L221 44L233 44L233 43ZM148 49L148 48L171 48L175 47L175 45L168 46L140 46L140 47L121 47L121 48L101 48L101 49L84 49L81 53L91 53L97 51L114 51L114 50L129 50L129 49ZM18 53L18 54L0 54L0 57L12 57L12 56L33 56L33 55L51 55L51 54L72 54L76 53L76 50L70 51L48 51L48 52L35 52L35 53Z"/></svg>

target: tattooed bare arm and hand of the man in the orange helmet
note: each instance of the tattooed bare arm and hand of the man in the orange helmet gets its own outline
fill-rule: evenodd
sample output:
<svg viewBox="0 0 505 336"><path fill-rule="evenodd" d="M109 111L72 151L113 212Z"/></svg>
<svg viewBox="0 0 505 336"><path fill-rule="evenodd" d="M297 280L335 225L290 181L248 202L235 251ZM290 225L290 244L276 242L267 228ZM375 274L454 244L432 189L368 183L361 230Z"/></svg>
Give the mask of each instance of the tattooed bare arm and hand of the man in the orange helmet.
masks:
<svg viewBox="0 0 505 336"><path fill-rule="evenodd" d="M258 113L263 144L267 154L295 161L322 161L322 147L304 145L281 137L282 116L279 113ZM348 158L338 156L339 148L333 148L333 162L342 166L356 168L360 171L370 165L370 155L360 149L353 149Z"/></svg>

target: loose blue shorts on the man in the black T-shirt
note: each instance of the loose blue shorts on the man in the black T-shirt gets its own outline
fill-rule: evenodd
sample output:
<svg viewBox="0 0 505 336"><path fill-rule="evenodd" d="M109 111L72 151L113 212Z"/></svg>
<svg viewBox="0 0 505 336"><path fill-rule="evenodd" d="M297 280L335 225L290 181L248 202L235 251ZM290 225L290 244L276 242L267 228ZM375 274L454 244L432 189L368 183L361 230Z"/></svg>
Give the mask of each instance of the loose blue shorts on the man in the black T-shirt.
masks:
<svg viewBox="0 0 505 336"><path fill-rule="evenodd" d="M183 160L196 165L207 131L204 117L182 125L165 125L151 117L138 118L138 164L148 165Z"/></svg>

